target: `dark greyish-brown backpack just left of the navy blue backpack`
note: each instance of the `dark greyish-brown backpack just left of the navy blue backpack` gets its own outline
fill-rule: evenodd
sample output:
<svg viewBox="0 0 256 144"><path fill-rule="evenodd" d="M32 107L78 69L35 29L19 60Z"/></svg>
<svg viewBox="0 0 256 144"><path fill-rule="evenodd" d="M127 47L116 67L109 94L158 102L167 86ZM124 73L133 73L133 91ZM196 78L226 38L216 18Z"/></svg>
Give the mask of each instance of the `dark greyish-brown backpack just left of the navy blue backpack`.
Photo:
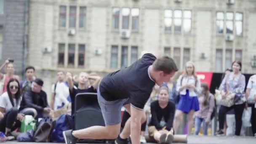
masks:
<svg viewBox="0 0 256 144"><path fill-rule="evenodd" d="M53 128L52 119L49 117L44 117L38 123L37 130L34 134L35 142L50 142L50 136Z"/></svg>

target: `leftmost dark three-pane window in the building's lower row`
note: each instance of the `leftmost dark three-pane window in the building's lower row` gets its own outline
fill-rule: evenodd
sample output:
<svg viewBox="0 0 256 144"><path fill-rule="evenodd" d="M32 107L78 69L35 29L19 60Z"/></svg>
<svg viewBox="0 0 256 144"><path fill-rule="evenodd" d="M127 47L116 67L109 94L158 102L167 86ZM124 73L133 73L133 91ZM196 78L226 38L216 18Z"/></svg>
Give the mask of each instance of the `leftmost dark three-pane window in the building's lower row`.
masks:
<svg viewBox="0 0 256 144"><path fill-rule="evenodd" d="M78 67L85 66L85 45L84 44L68 44L67 51L65 51L66 44L59 43L58 51L58 66L64 67L65 61L69 67L75 66L77 61ZM78 51L78 53L76 53Z"/></svg>

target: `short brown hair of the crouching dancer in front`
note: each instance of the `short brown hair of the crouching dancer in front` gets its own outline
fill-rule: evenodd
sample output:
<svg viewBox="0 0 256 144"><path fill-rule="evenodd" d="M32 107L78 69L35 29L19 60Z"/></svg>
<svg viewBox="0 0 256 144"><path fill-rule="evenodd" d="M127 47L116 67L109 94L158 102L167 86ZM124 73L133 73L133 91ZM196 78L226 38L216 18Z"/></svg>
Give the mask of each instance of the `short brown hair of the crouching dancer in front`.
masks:
<svg viewBox="0 0 256 144"><path fill-rule="evenodd" d="M178 71L175 62L168 56L162 56L161 58L156 59L153 63L153 69L155 71L163 71L165 74Z"/></svg>

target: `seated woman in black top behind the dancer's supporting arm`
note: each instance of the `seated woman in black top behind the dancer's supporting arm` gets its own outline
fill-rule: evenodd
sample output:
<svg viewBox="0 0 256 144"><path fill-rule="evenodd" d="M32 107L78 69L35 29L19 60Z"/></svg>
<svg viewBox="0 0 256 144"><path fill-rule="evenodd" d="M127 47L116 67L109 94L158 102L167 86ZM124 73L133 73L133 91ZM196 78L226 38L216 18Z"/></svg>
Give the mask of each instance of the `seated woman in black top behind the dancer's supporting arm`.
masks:
<svg viewBox="0 0 256 144"><path fill-rule="evenodd" d="M151 103L151 120L149 123L149 138L160 144L171 144L173 141L173 119L175 104L168 101L168 88L160 87L158 100Z"/></svg>

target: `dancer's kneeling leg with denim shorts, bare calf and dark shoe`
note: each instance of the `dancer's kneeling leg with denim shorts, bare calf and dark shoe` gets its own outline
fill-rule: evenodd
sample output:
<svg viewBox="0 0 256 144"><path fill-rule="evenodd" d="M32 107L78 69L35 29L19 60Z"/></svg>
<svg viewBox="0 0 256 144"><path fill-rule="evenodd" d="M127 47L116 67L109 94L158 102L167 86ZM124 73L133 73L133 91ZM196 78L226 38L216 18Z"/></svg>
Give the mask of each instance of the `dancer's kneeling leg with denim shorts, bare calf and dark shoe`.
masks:
<svg viewBox="0 0 256 144"><path fill-rule="evenodd" d="M106 101L98 89L97 98L106 126L92 126L77 131L64 131L66 144L75 144L78 139L115 139L121 128L121 107L123 100Z"/></svg>

